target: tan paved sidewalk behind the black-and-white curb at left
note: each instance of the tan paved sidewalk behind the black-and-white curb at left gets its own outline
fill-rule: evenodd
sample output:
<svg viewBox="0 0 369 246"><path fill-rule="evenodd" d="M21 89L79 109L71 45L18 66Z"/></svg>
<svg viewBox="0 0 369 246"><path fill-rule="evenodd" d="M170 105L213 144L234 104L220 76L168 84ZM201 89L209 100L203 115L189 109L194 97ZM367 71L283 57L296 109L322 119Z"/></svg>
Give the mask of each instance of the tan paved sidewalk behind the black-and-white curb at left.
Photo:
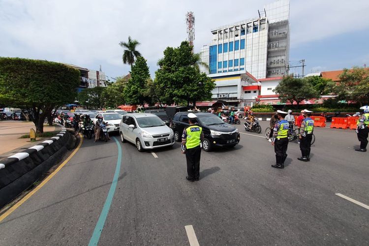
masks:
<svg viewBox="0 0 369 246"><path fill-rule="evenodd" d="M32 122L0 121L0 159L19 152L17 151L19 148L29 148L35 145L38 141L31 142L29 138L20 138L25 134L30 134L31 128L36 129ZM46 131L55 131L55 126L45 125L44 132ZM37 140L40 139L37 138Z"/></svg>

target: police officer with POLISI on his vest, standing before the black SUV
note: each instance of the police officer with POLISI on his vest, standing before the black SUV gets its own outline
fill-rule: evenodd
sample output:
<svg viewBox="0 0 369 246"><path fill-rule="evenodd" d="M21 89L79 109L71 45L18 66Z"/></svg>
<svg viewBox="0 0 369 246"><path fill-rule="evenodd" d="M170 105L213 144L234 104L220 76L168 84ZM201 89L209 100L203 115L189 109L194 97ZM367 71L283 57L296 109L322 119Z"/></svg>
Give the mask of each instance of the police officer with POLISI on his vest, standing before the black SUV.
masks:
<svg viewBox="0 0 369 246"><path fill-rule="evenodd" d="M194 113L188 114L189 126L184 128L182 134L182 153L186 154L188 181L198 181L200 177L200 156L204 133L198 126L197 116Z"/></svg>

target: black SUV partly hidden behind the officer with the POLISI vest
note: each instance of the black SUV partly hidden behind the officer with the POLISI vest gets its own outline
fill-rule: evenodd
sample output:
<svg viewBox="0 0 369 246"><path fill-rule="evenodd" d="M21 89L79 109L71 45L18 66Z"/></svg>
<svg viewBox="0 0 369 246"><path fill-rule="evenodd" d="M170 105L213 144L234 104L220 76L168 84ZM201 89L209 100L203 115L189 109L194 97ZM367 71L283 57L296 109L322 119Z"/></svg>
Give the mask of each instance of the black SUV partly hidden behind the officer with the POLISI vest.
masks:
<svg viewBox="0 0 369 246"><path fill-rule="evenodd" d="M189 125L187 115L192 112L179 112L173 118L171 128L174 131L174 139L181 141L185 127ZM219 117L211 113L194 112L197 116L197 124L202 127L204 151L211 151L214 146L234 147L240 142L240 133L237 128L224 123Z"/></svg>

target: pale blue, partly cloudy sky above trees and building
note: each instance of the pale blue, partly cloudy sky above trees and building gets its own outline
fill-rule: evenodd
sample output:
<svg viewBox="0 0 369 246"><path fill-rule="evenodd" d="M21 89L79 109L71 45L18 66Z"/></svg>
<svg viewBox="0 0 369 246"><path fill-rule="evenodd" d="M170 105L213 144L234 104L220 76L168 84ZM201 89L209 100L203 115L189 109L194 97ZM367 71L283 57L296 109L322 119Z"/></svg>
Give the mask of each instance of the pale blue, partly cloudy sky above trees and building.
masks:
<svg viewBox="0 0 369 246"><path fill-rule="evenodd" d="M186 39L195 15L195 52L211 29L258 16L273 0L0 0L0 56L72 63L123 76L120 41L137 39L150 73L166 47ZM290 0L290 66L305 74L369 66L369 0ZM301 68L290 72L302 74Z"/></svg>

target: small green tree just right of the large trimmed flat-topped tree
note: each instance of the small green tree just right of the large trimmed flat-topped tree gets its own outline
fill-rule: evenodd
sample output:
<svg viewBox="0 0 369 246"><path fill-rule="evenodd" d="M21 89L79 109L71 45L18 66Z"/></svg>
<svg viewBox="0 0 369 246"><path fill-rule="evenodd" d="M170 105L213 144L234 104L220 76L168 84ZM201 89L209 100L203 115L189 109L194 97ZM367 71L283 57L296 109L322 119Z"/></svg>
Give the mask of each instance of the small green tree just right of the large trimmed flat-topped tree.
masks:
<svg viewBox="0 0 369 246"><path fill-rule="evenodd" d="M105 98L106 87L87 88L78 93L78 100L81 105L94 108L104 108L106 104Z"/></svg>

